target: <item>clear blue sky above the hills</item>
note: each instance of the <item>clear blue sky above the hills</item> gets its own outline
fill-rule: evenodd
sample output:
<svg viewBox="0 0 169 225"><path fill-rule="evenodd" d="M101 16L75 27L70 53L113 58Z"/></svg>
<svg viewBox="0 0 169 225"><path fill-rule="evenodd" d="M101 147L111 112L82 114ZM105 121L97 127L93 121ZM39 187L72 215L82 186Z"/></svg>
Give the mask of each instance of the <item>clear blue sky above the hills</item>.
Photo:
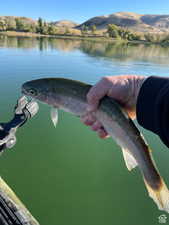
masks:
<svg viewBox="0 0 169 225"><path fill-rule="evenodd" d="M114 12L169 14L169 0L5 0L0 15L42 17L47 21L62 19L82 23L94 16Z"/></svg>

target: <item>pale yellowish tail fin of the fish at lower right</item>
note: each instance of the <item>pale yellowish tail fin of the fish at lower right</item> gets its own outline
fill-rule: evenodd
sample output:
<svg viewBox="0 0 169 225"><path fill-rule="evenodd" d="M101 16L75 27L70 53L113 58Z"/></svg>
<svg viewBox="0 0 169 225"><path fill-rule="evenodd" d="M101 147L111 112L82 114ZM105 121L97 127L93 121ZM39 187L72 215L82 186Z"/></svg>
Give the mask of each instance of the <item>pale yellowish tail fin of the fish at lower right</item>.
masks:
<svg viewBox="0 0 169 225"><path fill-rule="evenodd" d="M146 188L148 190L149 196L154 200L157 204L159 210L164 210L169 213L169 190L164 183L163 179L161 179L160 187L154 190L144 179Z"/></svg>

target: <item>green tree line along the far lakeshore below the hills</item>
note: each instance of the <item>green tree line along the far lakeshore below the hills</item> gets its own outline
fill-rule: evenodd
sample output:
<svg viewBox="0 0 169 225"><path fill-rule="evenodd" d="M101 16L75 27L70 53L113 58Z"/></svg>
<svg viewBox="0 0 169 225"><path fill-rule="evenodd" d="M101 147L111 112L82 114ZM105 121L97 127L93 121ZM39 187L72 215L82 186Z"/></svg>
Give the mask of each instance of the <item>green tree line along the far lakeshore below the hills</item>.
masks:
<svg viewBox="0 0 169 225"><path fill-rule="evenodd" d="M82 36L105 36L116 40L126 41L147 41L150 43L169 44L169 34L153 34L153 33L138 33L127 28L109 24L106 31L100 32L96 25L83 25L80 30L65 27L64 31L60 30L54 23L48 23L42 18L33 21L26 17L0 17L0 31L16 31L16 32L31 32L43 35L82 35Z"/></svg>

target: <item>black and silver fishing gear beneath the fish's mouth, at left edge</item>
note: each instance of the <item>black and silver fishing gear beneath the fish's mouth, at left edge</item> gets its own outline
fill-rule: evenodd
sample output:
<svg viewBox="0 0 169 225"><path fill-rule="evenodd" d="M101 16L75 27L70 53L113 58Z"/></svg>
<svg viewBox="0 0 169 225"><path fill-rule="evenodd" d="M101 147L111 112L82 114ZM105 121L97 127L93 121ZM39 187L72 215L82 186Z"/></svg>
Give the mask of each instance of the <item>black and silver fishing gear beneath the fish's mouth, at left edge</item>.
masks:
<svg viewBox="0 0 169 225"><path fill-rule="evenodd" d="M22 96L14 108L14 117L7 123L0 123L0 152L10 149L16 144L16 131L30 118L36 115L39 106L35 101L28 101Z"/></svg>

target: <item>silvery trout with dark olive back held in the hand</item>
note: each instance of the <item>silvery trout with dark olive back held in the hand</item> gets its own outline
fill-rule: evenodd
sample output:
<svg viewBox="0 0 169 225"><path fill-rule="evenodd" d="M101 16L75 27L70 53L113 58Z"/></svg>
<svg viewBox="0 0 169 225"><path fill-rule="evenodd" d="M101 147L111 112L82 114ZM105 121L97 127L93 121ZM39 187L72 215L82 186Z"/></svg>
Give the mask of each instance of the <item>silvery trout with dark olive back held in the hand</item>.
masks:
<svg viewBox="0 0 169 225"><path fill-rule="evenodd" d="M76 80L42 78L25 82L21 91L26 96L52 106L55 113L52 112L51 116L56 125L58 109L78 117L86 115L86 95L91 87ZM149 196L159 210L169 213L169 190L157 169L151 149L126 111L115 99L105 96L93 114L121 147L128 170L139 168Z"/></svg>

